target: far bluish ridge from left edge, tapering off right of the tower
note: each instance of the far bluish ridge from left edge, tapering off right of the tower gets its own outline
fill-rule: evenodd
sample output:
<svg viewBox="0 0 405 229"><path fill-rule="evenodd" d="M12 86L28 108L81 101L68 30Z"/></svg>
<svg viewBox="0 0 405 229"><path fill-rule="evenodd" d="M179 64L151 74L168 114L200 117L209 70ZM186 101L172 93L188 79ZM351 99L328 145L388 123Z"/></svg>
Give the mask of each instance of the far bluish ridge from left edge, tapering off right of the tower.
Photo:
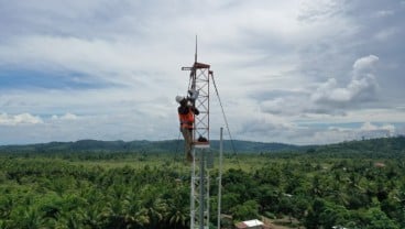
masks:
<svg viewBox="0 0 405 229"><path fill-rule="evenodd" d="M178 152L183 151L183 140L166 141L98 141L98 140L80 140L76 142L50 142L40 144L25 145L0 145L1 152L21 152L21 153L46 153L46 152ZM219 141L211 141L211 149L219 149ZM254 153L254 152L274 152L274 151L296 151L299 146L283 143L263 143L250 141L223 141L223 151L237 153Z"/></svg>

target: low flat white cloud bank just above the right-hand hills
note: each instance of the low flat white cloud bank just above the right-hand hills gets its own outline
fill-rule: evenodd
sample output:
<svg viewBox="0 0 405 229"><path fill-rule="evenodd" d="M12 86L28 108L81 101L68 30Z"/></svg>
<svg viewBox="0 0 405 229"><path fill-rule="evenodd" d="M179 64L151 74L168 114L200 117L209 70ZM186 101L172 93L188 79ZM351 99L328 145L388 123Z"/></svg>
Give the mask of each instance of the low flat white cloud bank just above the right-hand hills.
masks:
<svg viewBox="0 0 405 229"><path fill-rule="evenodd" d="M288 142L296 144L328 144L363 138L385 138L401 133L401 130L393 124L364 122L361 126L352 126L351 122L331 122L326 126L317 120L314 120L314 123L303 123L291 122L288 119L262 117L245 122L238 134L243 134L245 139L253 141L284 142L283 139L288 139Z"/></svg>

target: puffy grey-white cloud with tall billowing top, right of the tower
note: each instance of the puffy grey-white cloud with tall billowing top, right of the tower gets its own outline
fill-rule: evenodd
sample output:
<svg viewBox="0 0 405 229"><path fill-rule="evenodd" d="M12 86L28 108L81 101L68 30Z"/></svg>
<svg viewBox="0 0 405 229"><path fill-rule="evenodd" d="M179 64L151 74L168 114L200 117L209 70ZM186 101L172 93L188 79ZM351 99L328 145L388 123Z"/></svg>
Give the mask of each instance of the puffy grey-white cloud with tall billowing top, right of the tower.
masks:
<svg viewBox="0 0 405 229"><path fill-rule="evenodd" d="M358 58L352 65L351 76L346 86L337 78L315 84L311 89L300 91L259 92L252 96L260 100L263 112L284 116L305 116L307 113L343 115L350 109L363 107L366 102L376 101L379 83L374 76L379 57L369 55ZM346 78L346 77L341 77Z"/></svg>

